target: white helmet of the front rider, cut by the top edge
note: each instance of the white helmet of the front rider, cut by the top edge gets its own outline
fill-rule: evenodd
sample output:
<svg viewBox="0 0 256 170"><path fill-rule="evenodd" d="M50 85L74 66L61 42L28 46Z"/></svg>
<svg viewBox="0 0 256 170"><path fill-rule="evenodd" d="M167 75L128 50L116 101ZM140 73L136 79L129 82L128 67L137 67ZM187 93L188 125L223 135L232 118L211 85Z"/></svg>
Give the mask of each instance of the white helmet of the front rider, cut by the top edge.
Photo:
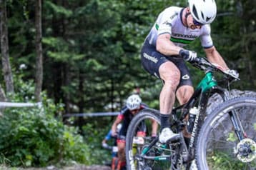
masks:
<svg viewBox="0 0 256 170"><path fill-rule="evenodd" d="M197 22L210 24L215 20L217 6L215 0L188 0L189 10Z"/></svg>

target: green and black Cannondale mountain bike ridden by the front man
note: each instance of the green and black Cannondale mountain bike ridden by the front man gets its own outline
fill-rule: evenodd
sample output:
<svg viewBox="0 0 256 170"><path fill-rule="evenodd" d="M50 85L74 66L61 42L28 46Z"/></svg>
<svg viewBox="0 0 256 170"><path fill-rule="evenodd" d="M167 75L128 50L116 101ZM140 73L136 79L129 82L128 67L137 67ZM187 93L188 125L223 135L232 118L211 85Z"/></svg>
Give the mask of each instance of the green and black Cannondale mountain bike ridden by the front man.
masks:
<svg viewBox="0 0 256 170"><path fill-rule="evenodd" d="M172 109L171 129L180 138L162 144L158 136L150 139L147 134L143 143L134 144L140 122L144 121L147 131L152 119L160 125L159 111L140 111L127 130L127 169L255 169L256 97L232 98L230 84L238 80L237 76L207 59L198 57L192 65L205 71L205 76L191 99ZM225 88L218 85L220 76L224 77L221 80L227 85ZM206 114L207 101L216 93L222 96L223 103Z"/></svg>

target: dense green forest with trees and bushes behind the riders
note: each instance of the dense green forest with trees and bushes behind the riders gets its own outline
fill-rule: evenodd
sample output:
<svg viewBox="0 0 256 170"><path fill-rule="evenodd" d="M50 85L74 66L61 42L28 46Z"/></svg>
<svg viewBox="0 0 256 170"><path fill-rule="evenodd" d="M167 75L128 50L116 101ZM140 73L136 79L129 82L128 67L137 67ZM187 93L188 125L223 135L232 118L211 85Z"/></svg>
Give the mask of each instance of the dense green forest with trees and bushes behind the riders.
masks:
<svg viewBox="0 0 256 170"><path fill-rule="evenodd" d="M217 50L240 73L235 89L256 90L255 4L217 0L217 18L211 24ZM63 115L119 111L137 88L144 103L158 109L162 83L142 69L139 50L167 6L187 6L187 1L1 0L1 101L43 101L46 111L38 116L37 109L4 110L1 164L98 164L107 159L100 142L114 117ZM199 40L186 48L204 56ZM204 73L189 68L197 84ZM46 129L40 132L46 139L40 129ZM31 135L36 136L34 143ZM58 140L63 143L56 144Z"/></svg>

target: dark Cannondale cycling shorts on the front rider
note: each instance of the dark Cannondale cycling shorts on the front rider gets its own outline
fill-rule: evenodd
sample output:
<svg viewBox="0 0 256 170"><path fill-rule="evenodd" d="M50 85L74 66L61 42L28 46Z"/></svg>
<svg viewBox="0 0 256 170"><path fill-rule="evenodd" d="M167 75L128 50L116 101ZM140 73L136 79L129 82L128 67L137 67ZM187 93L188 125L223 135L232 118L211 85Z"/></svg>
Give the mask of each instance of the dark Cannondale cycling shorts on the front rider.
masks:
<svg viewBox="0 0 256 170"><path fill-rule="evenodd" d="M192 86L192 80L189 74L189 69L185 64L184 59L178 56L164 56L163 54L157 51L155 46L150 45L147 40L144 42L142 46L141 60L144 69L147 72L149 72L149 74L152 74L153 76L156 76L159 79L161 79L159 75L159 67L165 62L171 61L177 66L177 68L180 71L181 77L179 86Z"/></svg>

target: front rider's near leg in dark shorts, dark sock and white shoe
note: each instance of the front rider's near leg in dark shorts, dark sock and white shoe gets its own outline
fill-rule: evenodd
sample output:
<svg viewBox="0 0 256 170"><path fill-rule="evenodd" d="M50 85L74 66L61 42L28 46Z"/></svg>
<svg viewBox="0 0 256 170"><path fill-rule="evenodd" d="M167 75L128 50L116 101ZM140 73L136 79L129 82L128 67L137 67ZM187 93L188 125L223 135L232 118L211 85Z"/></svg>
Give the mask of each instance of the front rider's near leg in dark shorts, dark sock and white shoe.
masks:
<svg viewBox="0 0 256 170"><path fill-rule="evenodd" d="M179 84L180 73L177 66L167 59L167 56L160 54L154 46L147 42L142 48L142 66L154 76L164 81L164 86L159 96L161 113L161 130L164 133L159 136L161 142L167 142L175 139L178 135L169 129L169 114L172 112L172 106L175 101L175 91Z"/></svg>

